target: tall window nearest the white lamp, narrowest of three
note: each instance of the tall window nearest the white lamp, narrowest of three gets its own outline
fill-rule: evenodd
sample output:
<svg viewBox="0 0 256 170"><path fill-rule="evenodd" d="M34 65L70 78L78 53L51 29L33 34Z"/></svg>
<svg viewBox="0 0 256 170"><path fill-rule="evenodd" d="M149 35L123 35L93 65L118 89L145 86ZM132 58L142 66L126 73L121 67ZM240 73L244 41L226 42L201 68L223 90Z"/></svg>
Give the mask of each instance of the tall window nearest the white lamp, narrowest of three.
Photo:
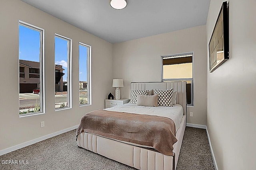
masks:
<svg viewBox="0 0 256 170"><path fill-rule="evenodd" d="M90 46L79 43L79 106L90 104L90 51Z"/></svg>

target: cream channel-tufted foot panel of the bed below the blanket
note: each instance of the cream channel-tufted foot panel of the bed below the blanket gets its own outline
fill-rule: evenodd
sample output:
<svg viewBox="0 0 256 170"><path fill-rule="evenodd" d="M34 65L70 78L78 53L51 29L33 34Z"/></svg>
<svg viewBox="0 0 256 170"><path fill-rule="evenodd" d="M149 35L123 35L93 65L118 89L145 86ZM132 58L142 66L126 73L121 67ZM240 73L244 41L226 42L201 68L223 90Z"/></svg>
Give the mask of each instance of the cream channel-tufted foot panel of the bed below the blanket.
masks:
<svg viewBox="0 0 256 170"><path fill-rule="evenodd" d="M90 133L80 133L77 136L77 145L139 170L172 170L173 156Z"/></svg>

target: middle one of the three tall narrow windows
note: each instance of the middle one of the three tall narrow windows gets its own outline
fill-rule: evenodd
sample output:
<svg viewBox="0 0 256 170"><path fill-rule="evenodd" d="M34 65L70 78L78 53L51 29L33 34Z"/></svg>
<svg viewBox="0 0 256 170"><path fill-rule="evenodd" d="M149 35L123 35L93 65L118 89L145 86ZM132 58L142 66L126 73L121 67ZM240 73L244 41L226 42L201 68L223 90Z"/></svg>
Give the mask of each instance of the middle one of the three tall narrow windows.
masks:
<svg viewBox="0 0 256 170"><path fill-rule="evenodd" d="M71 107L72 40L55 35L55 109Z"/></svg>

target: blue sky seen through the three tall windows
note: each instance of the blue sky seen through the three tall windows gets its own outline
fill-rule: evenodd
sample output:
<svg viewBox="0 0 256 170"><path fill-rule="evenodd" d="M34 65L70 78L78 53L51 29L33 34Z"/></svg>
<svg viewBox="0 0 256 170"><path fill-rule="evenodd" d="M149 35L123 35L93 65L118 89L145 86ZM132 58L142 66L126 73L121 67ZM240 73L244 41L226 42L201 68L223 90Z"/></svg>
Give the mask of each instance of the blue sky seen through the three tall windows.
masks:
<svg viewBox="0 0 256 170"><path fill-rule="evenodd" d="M79 81L87 81L87 50L88 47L79 45ZM19 59L39 62L40 32L19 26ZM63 81L67 80L68 42L55 37L55 64L65 69ZM75 63L73 63L75 64Z"/></svg>

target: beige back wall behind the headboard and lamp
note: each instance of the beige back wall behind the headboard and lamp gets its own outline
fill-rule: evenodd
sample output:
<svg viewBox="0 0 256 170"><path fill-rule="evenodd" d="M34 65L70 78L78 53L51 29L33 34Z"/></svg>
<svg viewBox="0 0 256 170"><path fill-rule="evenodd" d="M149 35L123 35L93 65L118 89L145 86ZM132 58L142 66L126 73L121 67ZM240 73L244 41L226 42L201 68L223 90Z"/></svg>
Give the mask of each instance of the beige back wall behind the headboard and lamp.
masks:
<svg viewBox="0 0 256 170"><path fill-rule="evenodd" d="M206 125L206 25L116 43L114 78L122 78L121 98L130 98L130 82L161 81L161 56L194 52L194 107L187 123ZM114 92L114 88L112 90Z"/></svg>

